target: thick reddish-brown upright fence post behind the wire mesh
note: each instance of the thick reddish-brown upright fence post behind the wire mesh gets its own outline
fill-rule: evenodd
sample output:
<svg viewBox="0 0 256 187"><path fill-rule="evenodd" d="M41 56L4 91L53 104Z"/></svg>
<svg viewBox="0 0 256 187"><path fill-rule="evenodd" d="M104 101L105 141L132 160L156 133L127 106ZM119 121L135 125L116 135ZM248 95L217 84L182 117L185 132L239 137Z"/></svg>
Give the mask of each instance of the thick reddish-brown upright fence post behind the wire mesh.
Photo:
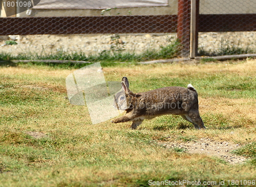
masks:
<svg viewBox="0 0 256 187"><path fill-rule="evenodd" d="M178 0L177 37L182 45L181 55L188 57L190 50L190 0Z"/></svg>

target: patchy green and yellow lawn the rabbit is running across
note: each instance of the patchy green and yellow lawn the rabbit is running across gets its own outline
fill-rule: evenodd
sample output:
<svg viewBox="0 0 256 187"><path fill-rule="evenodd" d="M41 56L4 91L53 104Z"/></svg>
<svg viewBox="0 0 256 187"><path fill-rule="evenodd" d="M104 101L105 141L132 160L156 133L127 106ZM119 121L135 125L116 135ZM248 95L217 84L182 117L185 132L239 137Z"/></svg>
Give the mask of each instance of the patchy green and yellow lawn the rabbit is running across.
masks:
<svg viewBox="0 0 256 187"><path fill-rule="evenodd" d="M193 84L207 129L196 130L172 115L145 120L136 130L129 129L131 122L92 125L87 107L67 99L65 79L74 67L5 63L0 66L0 186L166 184L157 181L181 186L172 182L182 180L194 181L183 186L255 185L256 60L102 67L106 81L126 76L134 92ZM241 144L236 154L248 159L232 165L167 149L166 137Z"/></svg>

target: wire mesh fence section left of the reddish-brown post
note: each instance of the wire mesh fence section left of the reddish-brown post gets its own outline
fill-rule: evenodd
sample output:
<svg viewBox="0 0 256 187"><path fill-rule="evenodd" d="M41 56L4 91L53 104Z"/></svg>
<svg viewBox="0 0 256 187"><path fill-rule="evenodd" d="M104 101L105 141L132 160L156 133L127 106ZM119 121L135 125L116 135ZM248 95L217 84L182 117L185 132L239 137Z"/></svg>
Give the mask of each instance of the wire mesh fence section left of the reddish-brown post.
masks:
<svg viewBox="0 0 256 187"><path fill-rule="evenodd" d="M4 11L2 10L2 17ZM16 45L2 51L34 58L75 54L76 60L145 61L179 55L177 1L48 1L5 20ZM79 54L79 55L78 55ZM74 55L73 55L74 56ZM56 57L56 55L55 55Z"/></svg>

